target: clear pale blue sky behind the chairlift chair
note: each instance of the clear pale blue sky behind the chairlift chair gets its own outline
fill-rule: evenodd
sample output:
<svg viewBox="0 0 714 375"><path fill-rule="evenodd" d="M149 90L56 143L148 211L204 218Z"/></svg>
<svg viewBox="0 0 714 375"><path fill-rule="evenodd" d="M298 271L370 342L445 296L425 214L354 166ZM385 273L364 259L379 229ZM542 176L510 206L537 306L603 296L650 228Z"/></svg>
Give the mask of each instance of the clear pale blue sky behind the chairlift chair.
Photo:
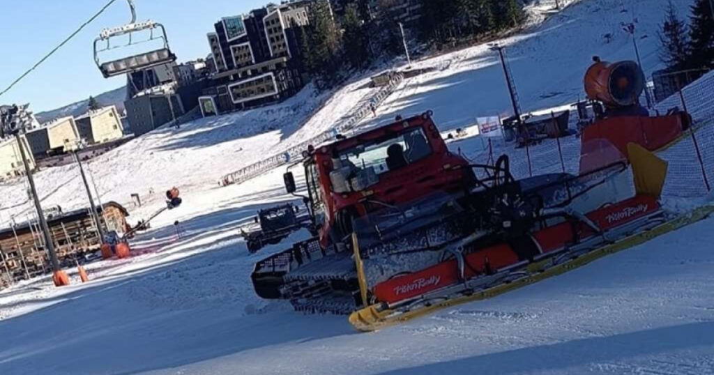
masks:
<svg viewBox="0 0 714 375"><path fill-rule="evenodd" d="M0 91L41 56L69 36L108 0L0 0ZM268 0L135 0L137 19L166 26L179 61L205 57L206 34L222 16L243 14ZM12 5L9 6L8 3ZM14 89L0 104L31 103L36 112L101 94L124 85L125 78L104 79L94 65L92 43L105 27L129 21L129 7L118 0Z"/></svg>

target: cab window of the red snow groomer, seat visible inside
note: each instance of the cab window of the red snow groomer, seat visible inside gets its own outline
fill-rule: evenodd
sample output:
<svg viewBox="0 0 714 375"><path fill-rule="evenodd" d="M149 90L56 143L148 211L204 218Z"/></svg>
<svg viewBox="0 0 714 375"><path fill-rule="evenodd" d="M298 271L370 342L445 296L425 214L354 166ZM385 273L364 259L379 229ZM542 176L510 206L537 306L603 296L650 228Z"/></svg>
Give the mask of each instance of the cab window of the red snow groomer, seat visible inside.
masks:
<svg viewBox="0 0 714 375"><path fill-rule="evenodd" d="M361 144L339 154L344 164L356 169L373 168L376 174L400 169L431 154L431 146L421 128L411 129L389 139Z"/></svg>

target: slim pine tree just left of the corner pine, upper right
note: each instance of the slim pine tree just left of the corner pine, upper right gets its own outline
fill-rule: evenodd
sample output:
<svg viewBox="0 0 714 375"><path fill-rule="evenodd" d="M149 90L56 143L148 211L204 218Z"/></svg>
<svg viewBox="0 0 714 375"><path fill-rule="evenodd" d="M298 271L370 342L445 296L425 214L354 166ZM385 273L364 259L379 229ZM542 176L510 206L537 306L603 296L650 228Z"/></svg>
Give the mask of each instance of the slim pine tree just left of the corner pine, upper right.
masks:
<svg viewBox="0 0 714 375"><path fill-rule="evenodd" d="M688 60L687 25L679 18L672 0L665 12L665 20L658 31L660 59L673 70L685 69Z"/></svg>

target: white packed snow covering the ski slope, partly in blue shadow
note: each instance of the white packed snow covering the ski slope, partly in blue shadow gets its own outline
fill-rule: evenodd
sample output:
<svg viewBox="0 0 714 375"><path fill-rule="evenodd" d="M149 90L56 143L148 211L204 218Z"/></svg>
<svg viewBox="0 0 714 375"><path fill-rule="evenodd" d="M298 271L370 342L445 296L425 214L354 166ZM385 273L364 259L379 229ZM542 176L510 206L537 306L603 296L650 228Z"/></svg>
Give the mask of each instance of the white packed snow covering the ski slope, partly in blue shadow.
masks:
<svg viewBox="0 0 714 375"><path fill-rule="evenodd" d="M691 2L675 5L685 14ZM569 6L548 19L553 1L532 6L533 26L501 41L526 111L577 100L592 55L633 59L622 21L638 20L645 70L659 67L655 31L666 0L561 3ZM406 79L363 129L433 109L443 132L469 133L477 117L508 113L503 72L487 46L418 66L443 69ZM276 106L160 129L88 163L102 201L127 204L132 221L158 209L171 186L183 191L184 204L132 242L130 259L87 266L87 284L72 273L73 285L61 289L34 279L0 291L0 374L714 373L714 219L563 276L372 334L357 334L343 316L296 314L285 302L259 299L249 279L253 264L308 234L248 254L238 226L258 209L294 199L284 194L284 169L225 188L217 181L329 129L371 94L368 76L335 91L308 87ZM685 91L697 109L708 169L714 125L711 91L703 88L713 81L707 77ZM487 161L488 139L476 135L452 141L451 149ZM528 150L534 173L577 170L579 140L562 141L562 164L554 140ZM680 177L665 188L680 211L708 199L700 169L691 166L692 145L685 139L660 154ZM526 150L498 139L492 148L496 156L512 156L516 176L529 174ZM44 204L85 205L73 166L41 171L36 179ZM132 193L143 206L128 204ZM1 184L0 194L5 225L10 215L21 221L31 212L21 181Z"/></svg>

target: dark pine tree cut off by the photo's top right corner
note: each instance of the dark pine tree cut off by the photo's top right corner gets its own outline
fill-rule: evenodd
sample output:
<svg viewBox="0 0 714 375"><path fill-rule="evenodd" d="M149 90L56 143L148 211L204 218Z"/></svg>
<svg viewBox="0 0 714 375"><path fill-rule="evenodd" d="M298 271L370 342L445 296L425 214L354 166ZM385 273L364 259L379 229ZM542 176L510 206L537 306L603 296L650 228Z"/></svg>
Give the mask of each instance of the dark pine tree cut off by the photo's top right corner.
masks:
<svg viewBox="0 0 714 375"><path fill-rule="evenodd" d="M709 0L697 0L690 23L689 67L714 68L714 19Z"/></svg>

